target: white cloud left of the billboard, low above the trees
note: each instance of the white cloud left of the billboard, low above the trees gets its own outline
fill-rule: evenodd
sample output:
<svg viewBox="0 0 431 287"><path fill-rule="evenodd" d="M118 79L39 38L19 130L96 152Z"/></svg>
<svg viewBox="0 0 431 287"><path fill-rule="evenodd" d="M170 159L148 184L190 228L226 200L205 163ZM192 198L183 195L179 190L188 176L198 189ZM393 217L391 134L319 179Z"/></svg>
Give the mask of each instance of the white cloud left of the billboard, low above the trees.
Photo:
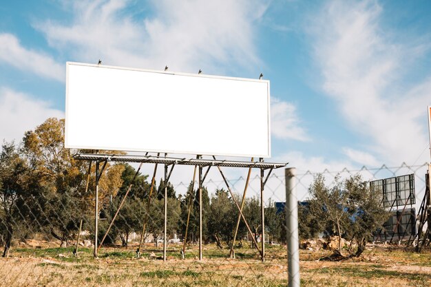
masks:
<svg viewBox="0 0 431 287"><path fill-rule="evenodd" d="M50 117L64 118L64 113L52 109L43 100L0 87L0 140L18 143L25 131L34 129Z"/></svg>

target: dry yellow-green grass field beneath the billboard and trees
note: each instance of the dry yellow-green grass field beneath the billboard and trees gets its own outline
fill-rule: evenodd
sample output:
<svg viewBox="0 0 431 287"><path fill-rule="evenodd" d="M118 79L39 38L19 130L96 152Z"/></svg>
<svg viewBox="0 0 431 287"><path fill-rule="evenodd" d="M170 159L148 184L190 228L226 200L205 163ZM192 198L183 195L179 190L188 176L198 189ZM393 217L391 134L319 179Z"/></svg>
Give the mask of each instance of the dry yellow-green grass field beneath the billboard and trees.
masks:
<svg viewBox="0 0 431 287"><path fill-rule="evenodd" d="M286 249L267 246L266 262L251 248L236 251L205 246L204 260L189 248L186 259L180 247L169 246L168 260L151 247L136 258L135 248L104 248L99 258L92 249L14 248L0 259L0 286L287 286ZM302 286L431 286L431 252L421 254L405 248L375 246L360 258L342 262L319 260L330 251L301 251Z"/></svg>

